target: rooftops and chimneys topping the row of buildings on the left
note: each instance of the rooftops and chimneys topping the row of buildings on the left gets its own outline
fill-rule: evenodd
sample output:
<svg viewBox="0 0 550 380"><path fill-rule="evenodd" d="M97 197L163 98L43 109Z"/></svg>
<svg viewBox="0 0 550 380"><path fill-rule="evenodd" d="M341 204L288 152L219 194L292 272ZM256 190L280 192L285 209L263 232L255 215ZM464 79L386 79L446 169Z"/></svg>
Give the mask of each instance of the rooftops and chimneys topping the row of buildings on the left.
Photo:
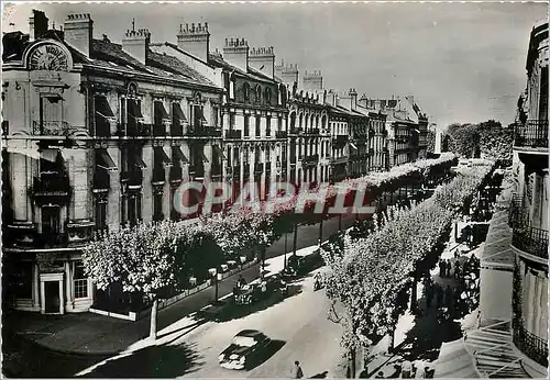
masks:
<svg viewBox="0 0 550 380"><path fill-rule="evenodd" d="M191 35L194 42L201 41L200 37L207 38L206 47L208 47L208 23L204 24L180 24L178 36L178 44L172 44L169 42L165 43L151 43L151 32L147 29L135 29L135 23L132 21L132 29L128 30L125 33L125 38L122 44L117 44L111 42L107 35L103 34L101 40L92 38L92 24L94 21L89 13L80 14L68 14L65 20L65 31L61 27L59 30L48 29L48 19L42 11L33 11L33 16L30 18L30 35L25 35L21 32L4 33L3 36L3 55L2 58L4 63L10 62L21 62L23 58L24 51L36 40L55 40L63 43L72 53L75 63L87 65L88 67L103 70L114 70L127 74L142 74L148 76L157 76L164 79L178 80L184 82L189 82L193 85L206 86L209 88L215 88L217 91L222 91L215 82L208 79L205 75L201 75L197 69L191 68L189 65L177 58L178 54L184 54L191 58L198 59L200 63L209 66L210 68L222 68L232 72L237 72L241 76L249 77L252 80L268 81L268 82L282 82L285 85L294 85L292 96L297 99L298 97L308 98L310 100L317 99L317 102L331 107L333 111L339 112L350 112L355 115L364 115L364 113L359 113L355 111L358 104L358 92L355 89L351 89L348 93L336 92L333 90L327 91L323 86L323 78L320 70L305 71L302 76L305 85L304 91L297 91L297 80L298 80L298 66L296 64L286 64L284 60L279 65L275 64L274 48L270 47L254 47L251 52L248 51L248 42L244 38L226 38L226 47L246 47L246 54L252 57L267 57L273 59L273 70L270 72L262 72L260 69L251 67L250 63L246 62L245 68L241 65L237 65L233 62L228 62L222 53L218 49L215 52L207 52L205 57L198 57L194 52L189 53L182 48L179 42L180 38L186 38L186 35ZM88 32L89 47L87 48L87 42L82 40L82 35L86 33L77 33L77 37L80 40L75 40L73 37L67 38L67 33L73 30L79 30L79 32ZM34 35L32 35L34 33ZM199 36L199 40L196 38ZM124 43L130 41L132 45L125 48ZM204 40L202 40L204 41ZM136 44L143 43L143 55L136 56L131 54L132 49ZM85 46L75 46L81 44ZM155 52L156 46L166 46L174 52L174 55L166 53ZM79 48L80 47L80 48ZM86 52L88 51L88 52ZM261 60L260 60L261 62ZM290 76L288 76L290 75ZM286 77L285 77L286 76ZM288 81L288 78L294 79L294 82ZM290 86L288 86L289 88ZM322 94L322 101L321 97ZM327 99L329 98L329 99ZM351 98L351 99L350 99ZM351 101L350 101L350 100ZM411 107L417 116L426 118L420 112L418 105L414 102L413 97L405 97L406 101L411 100ZM340 101L342 100L342 101ZM392 118L399 116L393 112L399 104L398 99L372 99L363 94L359 100L360 107L367 112L383 112ZM343 107L345 104L348 107ZM399 111L399 110L397 110ZM410 120L405 116L403 120Z"/></svg>

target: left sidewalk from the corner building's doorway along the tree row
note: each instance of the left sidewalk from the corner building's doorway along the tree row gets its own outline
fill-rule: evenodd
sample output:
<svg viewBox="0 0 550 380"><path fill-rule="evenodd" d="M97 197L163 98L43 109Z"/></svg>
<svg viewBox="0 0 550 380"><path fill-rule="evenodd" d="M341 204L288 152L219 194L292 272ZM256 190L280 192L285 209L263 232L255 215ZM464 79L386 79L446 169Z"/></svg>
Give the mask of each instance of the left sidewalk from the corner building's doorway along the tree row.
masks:
<svg viewBox="0 0 550 380"><path fill-rule="evenodd" d="M297 255L309 255L316 249L317 246L306 247L297 250ZM265 270L268 272L280 271L283 267L284 255L266 259ZM260 264L221 281L218 284L220 298L231 293L239 276L242 276L248 282L256 279L260 276ZM158 336L169 334L163 329L180 320L187 321L186 316L193 316L200 309L208 306L213 299L215 287L210 287L160 310L157 315ZM4 334L15 333L53 351L76 355L121 353L147 337L150 328L148 316L130 322L94 313L42 315L9 312L4 313L2 322Z"/></svg>

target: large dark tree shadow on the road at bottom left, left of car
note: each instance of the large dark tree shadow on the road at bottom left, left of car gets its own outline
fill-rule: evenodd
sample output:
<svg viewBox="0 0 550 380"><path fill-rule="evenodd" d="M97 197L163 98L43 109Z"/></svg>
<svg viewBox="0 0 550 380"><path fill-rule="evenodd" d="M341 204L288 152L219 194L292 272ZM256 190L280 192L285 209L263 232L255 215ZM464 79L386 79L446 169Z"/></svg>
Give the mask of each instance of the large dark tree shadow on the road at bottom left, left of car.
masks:
<svg viewBox="0 0 550 380"><path fill-rule="evenodd" d="M198 369L199 355L187 344L148 346L107 361L84 378L175 378Z"/></svg>

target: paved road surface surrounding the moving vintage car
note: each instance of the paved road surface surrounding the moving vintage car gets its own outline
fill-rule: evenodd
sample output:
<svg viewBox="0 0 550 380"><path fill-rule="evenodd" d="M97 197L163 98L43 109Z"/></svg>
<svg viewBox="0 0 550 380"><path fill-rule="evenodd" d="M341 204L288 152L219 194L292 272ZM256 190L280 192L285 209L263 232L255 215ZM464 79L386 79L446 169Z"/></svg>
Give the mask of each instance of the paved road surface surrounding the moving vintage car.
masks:
<svg viewBox="0 0 550 380"><path fill-rule="evenodd" d="M114 358L87 377L288 378L295 360L307 378L344 377L341 327L327 318L324 291L312 291L311 277L292 286L290 295L278 303L226 322L187 322L165 337L168 342ZM275 340L273 349L249 371L221 368L218 355L245 328L264 332Z"/></svg>

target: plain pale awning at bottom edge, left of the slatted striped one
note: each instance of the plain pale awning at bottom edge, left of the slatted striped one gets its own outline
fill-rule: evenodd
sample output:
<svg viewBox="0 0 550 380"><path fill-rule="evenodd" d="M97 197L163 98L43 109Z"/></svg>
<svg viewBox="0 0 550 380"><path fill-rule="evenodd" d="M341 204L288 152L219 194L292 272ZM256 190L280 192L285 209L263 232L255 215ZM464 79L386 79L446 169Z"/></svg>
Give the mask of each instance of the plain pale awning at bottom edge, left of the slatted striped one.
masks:
<svg viewBox="0 0 550 380"><path fill-rule="evenodd" d="M464 339L446 342L441 345L433 378L480 378Z"/></svg>

